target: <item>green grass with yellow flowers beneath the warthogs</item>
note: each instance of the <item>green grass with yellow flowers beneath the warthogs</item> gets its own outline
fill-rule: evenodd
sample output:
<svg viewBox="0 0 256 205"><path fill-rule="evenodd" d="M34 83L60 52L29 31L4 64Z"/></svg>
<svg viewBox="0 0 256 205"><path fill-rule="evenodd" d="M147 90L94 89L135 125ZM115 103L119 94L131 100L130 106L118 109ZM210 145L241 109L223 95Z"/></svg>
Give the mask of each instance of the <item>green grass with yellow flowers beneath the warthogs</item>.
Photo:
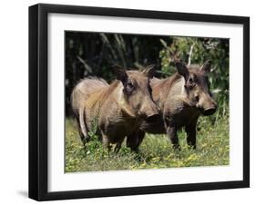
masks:
<svg viewBox="0 0 256 205"><path fill-rule="evenodd" d="M85 149L77 132L77 124L66 120L66 171L114 171L228 165L230 156L229 117L217 112L200 117L197 150L187 146L185 132L179 132L181 151L171 148L165 134L147 134L139 147L139 155L124 142L118 153L102 148L92 136Z"/></svg>

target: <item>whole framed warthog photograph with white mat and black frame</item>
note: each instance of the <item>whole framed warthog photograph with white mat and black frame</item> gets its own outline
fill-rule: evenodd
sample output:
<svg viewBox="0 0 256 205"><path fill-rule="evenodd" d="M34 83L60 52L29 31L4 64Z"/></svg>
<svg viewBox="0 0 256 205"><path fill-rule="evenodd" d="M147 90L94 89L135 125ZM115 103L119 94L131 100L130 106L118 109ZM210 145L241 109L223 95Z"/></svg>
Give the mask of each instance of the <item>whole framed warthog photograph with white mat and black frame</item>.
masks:
<svg viewBox="0 0 256 205"><path fill-rule="evenodd" d="M250 19L29 7L29 197L250 186Z"/></svg>

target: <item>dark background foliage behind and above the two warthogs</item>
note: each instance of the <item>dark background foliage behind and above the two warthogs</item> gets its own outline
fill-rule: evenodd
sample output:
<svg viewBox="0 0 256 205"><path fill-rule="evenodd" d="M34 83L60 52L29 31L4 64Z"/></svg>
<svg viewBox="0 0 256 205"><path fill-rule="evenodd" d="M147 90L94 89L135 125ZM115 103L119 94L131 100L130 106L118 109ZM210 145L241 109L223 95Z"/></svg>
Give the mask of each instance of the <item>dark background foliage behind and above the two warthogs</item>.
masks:
<svg viewBox="0 0 256 205"><path fill-rule="evenodd" d="M126 69L142 69L154 64L157 77L175 73L173 58L185 63L204 63L210 59L211 90L219 107L229 99L229 40L138 34L66 32L66 114L70 115L70 94L86 76L111 82L114 64Z"/></svg>

